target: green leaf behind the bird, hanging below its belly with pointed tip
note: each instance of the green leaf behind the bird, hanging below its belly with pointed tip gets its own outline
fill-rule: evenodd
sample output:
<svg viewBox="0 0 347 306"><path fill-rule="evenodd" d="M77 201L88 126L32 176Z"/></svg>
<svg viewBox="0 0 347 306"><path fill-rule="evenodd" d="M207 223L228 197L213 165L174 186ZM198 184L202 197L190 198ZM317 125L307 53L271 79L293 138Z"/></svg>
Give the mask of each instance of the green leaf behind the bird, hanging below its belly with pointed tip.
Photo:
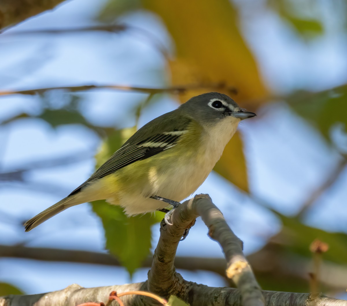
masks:
<svg viewBox="0 0 347 306"><path fill-rule="evenodd" d="M96 155L97 167L104 163L135 132L135 128L115 130L109 135ZM127 217L119 206L104 200L92 202L105 230L106 249L132 274L141 267L151 249L151 226L163 218L159 211Z"/></svg>

